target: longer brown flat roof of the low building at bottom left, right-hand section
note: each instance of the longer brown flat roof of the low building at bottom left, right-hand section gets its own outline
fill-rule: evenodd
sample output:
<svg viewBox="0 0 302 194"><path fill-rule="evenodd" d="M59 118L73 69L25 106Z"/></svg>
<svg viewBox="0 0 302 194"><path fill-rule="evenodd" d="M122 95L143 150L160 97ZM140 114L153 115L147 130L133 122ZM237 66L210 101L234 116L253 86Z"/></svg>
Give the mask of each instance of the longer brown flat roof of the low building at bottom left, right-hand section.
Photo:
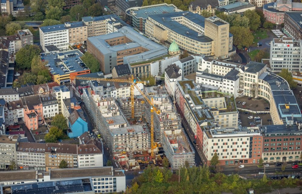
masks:
<svg viewBox="0 0 302 194"><path fill-rule="evenodd" d="M88 167L88 168L62 168L51 169L50 179L72 178L72 177L117 177L125 176L124 173L114 173L113 167Z"/></svg>

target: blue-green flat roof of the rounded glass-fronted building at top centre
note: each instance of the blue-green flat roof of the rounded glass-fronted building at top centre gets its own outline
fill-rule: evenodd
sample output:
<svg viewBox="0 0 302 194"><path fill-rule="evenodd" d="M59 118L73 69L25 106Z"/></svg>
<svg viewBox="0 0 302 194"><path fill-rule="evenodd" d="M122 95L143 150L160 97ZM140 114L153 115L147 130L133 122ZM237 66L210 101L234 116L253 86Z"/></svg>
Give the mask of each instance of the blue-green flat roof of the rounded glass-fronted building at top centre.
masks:
<svg viewBox="0 0 302 194"><path fill-rule="evenodd" d="M126 10L126 13L137 18L147 19L150 15L171 13L177 11L177 7L173 4L157 4L144 7L134 7ZM131 13L130 13L131 12Z"/></svg>

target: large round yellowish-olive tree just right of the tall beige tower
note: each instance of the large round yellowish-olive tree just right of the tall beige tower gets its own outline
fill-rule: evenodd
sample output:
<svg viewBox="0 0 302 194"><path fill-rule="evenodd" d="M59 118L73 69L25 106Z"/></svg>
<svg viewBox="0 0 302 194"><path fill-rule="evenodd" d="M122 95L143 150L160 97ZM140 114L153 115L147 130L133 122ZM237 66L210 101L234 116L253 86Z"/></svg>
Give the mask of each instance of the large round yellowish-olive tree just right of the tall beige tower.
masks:
<svg viewBox="0 0 302 194"><path fill-rule="evenodd" d="M254 37L245 27L233 26L230 28L230 33L233 34L233 44L237 45L238 49L249 47L253 43Z"/></svg>

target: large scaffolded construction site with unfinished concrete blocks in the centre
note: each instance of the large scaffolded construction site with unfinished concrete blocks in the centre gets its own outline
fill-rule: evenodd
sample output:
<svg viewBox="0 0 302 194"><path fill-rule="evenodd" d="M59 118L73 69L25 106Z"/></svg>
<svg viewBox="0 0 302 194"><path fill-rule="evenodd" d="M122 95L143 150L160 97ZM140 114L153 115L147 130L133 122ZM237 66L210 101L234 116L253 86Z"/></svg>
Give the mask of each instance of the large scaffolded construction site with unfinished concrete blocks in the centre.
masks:
<svg viewBox="0 0 302 194"><path fill-rule="evenodd" d="M113 159L124 169L162 165L166 157L173 169L195 164L195 153L169 94L162 87L145 88L141 95L102 98L83 91L95 129ZM174 139L173 139L174 138Z"/></svg>

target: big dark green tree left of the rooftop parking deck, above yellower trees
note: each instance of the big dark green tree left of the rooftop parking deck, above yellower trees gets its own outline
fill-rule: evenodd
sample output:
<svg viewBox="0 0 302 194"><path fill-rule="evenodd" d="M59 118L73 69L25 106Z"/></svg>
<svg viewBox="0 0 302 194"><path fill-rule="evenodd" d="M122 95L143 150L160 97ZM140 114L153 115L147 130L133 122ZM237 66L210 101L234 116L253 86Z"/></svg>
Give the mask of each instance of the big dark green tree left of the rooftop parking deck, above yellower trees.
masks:
<svg viewBox="0 0 302 194"><path fill-rule="evenodd" d="M40 48L37 45L25 45L16 53L16 63L19 68L25 69L31 67L31 60L34 56L40 54Z"/></svg>

